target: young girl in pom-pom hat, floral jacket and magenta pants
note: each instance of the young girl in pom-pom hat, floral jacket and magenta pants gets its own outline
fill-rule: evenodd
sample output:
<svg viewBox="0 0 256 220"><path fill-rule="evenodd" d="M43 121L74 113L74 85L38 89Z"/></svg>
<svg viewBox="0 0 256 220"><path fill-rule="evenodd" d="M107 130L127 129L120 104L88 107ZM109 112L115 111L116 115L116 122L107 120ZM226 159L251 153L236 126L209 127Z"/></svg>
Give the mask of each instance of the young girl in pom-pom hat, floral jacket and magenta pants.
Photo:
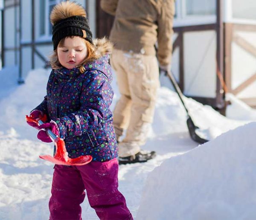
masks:
<svg viewBox="0 0 256 220"><path fill-rule="evenodd" d="M77 3L61 2L50 19L54 52L47 96L30 113L33 118L46 115L48 123L39 127L28 123L38 129L50 128L63 138L70 158L93 157L87 165L55 165L50 220L80 220L84 190L100 219L131 220L118 191L117 144L109 108L113 98L108 64L111 43L92 41L86 13ZM38 138L51 142L44 130Z"/></svg>

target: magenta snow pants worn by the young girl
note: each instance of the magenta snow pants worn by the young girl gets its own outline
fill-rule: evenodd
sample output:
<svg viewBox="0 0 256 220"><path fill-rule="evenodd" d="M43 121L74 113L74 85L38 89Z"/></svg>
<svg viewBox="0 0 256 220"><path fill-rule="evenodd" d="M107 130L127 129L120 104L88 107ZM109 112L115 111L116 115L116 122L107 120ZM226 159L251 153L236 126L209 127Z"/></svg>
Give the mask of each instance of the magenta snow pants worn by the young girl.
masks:
<svg viewBox="0 0 256 220"><path fill-rule="evenodd" d="M55 165L50 220L81 220L84 190L99 219L132 220L125 197L118 191L117 174L117 159L82 166Z"/></svg>

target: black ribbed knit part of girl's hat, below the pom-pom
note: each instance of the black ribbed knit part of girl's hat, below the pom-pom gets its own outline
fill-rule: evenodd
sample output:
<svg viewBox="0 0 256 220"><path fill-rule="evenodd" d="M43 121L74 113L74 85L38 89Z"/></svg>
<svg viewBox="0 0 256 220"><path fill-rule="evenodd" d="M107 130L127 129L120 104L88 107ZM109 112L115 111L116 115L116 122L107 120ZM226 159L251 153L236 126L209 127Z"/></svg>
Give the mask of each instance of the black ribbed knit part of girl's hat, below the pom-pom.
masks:
<svg viewBox="0 0 256 220"><path fill-rule="evenodd" d="M88 20L83 16L72 16L56 22L52 26L53 49L57 49L62 38L80 36L93 43L93 35L88 25Z"/></svg>

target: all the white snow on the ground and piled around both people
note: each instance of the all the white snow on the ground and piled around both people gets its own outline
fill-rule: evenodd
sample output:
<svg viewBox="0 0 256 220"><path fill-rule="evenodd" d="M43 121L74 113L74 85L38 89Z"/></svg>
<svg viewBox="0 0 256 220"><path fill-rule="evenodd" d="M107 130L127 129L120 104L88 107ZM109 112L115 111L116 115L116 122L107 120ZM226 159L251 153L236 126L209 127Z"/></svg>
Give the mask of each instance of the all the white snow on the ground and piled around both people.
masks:
<svg viewBox="0 0 256 220"><path fill-rule="evenodd" d="M39 142L37 131L25 122L25 115L42 101L48 76L49 70L36 69L29 72L26 84L17 85L17 69L0 71L1 220L49 217L53 165L38 155L52 154L52 144ZM112 86L113 110L119 93L115 81ZM256 219L256 110L231 94L227 98L232 103L227 117L185 99L194 122L211 139L198 147L189 137L177 94L160 88L143 146L157 151L157 157L119 167L119 190L135 219ZM83 219L98 219L87 200L82 209Z"/></svg>

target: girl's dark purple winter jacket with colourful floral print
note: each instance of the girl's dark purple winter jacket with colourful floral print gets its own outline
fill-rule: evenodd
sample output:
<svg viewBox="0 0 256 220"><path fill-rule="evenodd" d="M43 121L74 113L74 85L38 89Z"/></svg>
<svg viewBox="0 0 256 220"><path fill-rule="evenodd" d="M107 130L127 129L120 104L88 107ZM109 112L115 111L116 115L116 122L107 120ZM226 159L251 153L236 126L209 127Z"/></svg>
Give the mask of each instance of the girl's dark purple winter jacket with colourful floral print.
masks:
<svg viewBox="0 0 256 220"><path fill-rule="evenodd" d="M47 96L35 109L58 124L68 156L93 156L93 161L117 157L110 105L113 99L112 70L108 55L79 68L52 70Z"/></svg>

